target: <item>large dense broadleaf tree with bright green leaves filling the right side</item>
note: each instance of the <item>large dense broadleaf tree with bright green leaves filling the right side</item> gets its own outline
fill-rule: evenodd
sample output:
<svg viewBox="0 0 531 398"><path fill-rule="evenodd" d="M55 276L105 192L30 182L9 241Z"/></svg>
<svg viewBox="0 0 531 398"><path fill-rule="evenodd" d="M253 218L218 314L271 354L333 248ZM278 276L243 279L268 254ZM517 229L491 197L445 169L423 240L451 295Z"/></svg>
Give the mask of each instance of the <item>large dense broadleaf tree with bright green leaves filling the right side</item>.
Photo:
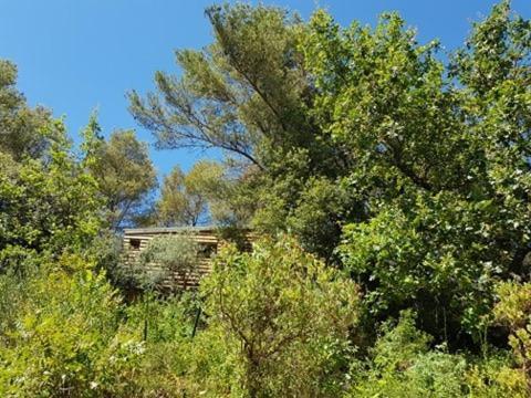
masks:
<svg viewBox="0 0 531 398"><path fill-rule="evenodd" d="M353 161L343 184L367 219L339 252L371 316L413 306L459 346L479 339L496 282L527 274L530 32L501 2L445 65L396 14L374 30L312 18L311 112Z"/></svg>

